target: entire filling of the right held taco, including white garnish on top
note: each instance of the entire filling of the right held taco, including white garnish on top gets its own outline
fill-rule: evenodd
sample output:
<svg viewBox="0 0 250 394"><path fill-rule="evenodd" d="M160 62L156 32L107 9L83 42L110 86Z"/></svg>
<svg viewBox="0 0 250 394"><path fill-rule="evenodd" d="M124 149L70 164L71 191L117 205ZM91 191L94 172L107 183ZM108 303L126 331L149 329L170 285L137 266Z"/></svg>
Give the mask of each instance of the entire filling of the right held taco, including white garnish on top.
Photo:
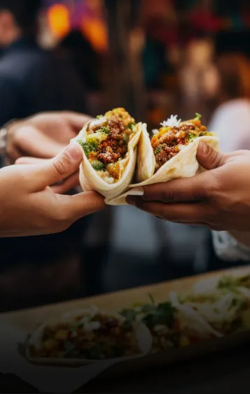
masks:
<svg viewBox="0 0 250 394"><path fill-rule="evenodd" d="M181 119L177 120L177 116L172 115L167 122L162 123L162 128L151 140L155 154L156 171L176 156L183 147L193 143L195 138L214 135L207 131L206 126L202 126L201 115L196 115L195 119L187 122L181 122Z"/></svg>

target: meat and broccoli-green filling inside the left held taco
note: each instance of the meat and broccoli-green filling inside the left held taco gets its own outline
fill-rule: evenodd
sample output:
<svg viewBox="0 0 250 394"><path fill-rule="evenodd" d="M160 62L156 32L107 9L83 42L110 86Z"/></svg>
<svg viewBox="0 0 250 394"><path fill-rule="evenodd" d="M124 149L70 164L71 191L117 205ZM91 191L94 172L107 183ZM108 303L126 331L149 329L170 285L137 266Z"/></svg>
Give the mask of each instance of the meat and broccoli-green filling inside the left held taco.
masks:
<svg viewBox="0 0 250 394"><path fill-rule="evenodd" d="M92 168L113 184L123 175L123 159L127 158L128 145L137 131L134 118L124 108L116 108L90 122L84 140L77 142Z"/></svg>

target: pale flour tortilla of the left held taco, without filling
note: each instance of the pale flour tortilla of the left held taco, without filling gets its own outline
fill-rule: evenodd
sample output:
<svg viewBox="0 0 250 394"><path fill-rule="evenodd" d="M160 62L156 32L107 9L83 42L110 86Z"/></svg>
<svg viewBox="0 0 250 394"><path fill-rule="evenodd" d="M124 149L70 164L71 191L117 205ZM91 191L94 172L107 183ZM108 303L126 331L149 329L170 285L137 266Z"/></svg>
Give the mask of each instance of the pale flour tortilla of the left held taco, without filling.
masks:
<svg viewBox="0 0 250 394"><path fill-rule="evenodd" d="M83 130L72 141L85 140L88 125L91 122L92 121L85 124ZM109 204L109 201L113 200L113 198L123 194L134 177L134 170L137 163L137 145L139 143L142 128L141 123L137 124L138 131L128 143L127 155L125 159L119 161L120 180L114 184L109 184L99 177L97 171L90 165L85 153L83 154L83 162L81 163L79 177L83 191L97 191L97 193L106 198L106 204Z"/></svg>

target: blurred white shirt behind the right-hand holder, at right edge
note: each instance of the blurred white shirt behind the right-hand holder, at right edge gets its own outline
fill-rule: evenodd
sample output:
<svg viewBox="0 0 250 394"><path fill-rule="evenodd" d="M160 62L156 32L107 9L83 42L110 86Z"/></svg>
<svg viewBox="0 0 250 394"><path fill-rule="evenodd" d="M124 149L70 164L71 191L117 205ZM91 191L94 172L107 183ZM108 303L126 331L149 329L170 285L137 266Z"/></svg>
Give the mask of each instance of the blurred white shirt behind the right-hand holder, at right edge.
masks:
<svg viewBox="0 0 250 394"><path fill-rule="evenodd" d="M250 149L250 101L236 99L221 105L211 120L209 130L220 139L222 152ZM226 231L213 232L214 248L227 261L250 261L250 248L239 244Z"/></svg>

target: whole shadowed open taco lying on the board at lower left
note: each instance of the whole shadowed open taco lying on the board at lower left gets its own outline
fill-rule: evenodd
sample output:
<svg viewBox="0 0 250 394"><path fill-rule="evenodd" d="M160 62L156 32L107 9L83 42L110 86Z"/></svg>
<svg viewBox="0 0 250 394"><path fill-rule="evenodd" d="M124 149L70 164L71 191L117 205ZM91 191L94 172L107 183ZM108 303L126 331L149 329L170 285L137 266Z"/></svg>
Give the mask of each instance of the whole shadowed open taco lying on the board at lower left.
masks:
<svg viewBox="0 0 250 394"><path fill-rule="evenodd" d="M137 357L150 349L143 324L92 307L41 325L29 338L26 356L33 363L73 366Z"/></svg>

